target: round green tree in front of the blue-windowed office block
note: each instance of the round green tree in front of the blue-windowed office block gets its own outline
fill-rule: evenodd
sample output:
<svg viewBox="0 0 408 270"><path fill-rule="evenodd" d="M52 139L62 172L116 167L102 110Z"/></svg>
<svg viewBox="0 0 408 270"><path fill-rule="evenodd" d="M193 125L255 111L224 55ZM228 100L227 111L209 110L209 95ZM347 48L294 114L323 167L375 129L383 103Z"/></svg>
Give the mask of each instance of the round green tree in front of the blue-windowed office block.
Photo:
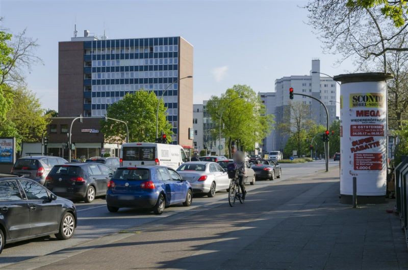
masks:
<svg viewBox="0 0 408 270"><path fill-rule="evenodd" d="M127 123L130 142L155 142L157 104L155 93L140 90L135 94L126 94L123 99L111 104L107 116ZM166 119L166 110L163 100L160 100L159 136L163 131L170 141L173 132L171 124ZM126 130L123 123L103 120L100 121L100 125L107 142L125 141Z"/></svg>

